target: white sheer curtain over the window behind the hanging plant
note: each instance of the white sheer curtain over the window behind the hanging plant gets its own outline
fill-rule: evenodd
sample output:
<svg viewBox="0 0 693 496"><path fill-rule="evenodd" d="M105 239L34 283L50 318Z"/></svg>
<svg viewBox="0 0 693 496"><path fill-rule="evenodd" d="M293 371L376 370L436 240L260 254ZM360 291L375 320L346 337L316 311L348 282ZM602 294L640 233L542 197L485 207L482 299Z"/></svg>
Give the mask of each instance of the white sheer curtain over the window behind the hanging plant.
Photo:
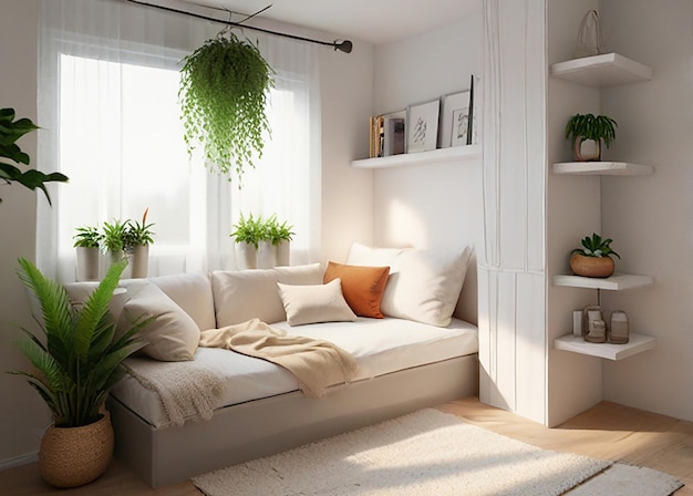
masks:
<svg viewBox="0 0 693 496"><path fill-rule="evenodd" d="M223 25L117 0L43 0L38 163L61 170L39 204L38 261L74 280L74 229L154 223L149 275L234 268L242 214L294 226L292 264L319 259L320 107L313 45L247 30L276 71L271 140L236 182L189 159L177 105L180 60Z"/></svg>

